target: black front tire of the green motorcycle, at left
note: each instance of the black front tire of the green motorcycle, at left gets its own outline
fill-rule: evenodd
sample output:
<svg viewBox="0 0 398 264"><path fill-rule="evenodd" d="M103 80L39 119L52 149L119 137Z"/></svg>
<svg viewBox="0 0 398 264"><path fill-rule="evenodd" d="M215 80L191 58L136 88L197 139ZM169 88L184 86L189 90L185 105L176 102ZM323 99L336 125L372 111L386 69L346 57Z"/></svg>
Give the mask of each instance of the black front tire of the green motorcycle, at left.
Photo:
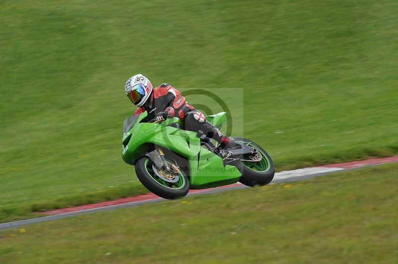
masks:
<svg viewBox="0 0 398 264"><path fill-rule="evenodd" d="M147 161L149 160L149 161ZM180 189L171 189L163 186L161 183L157 182L146 169L146 163L152 162L147 156L143 156L137 160L135 163L135 172L137 174L138 180L145 186L146 189L151 191L157 196L160 196L165 199L177 199L183 198L188 194L190 190L190 183L188 177L181 171L182 175L180 177L184 177L185 183Z"/></svg>

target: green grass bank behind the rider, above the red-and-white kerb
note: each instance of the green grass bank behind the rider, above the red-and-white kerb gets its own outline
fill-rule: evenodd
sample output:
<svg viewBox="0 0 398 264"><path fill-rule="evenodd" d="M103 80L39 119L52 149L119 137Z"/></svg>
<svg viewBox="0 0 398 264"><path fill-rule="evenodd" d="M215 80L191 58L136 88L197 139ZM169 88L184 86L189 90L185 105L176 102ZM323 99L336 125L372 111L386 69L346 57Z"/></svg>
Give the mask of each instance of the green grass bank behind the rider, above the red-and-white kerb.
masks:
<svg viewBox="0 0 398 264"><path fill-rule="evenodd" d="M123 85L242 87L278 170L398 153L396 0L0 2L0 222L146 192ZM209 103L209 102L208 102Z"/></svg>

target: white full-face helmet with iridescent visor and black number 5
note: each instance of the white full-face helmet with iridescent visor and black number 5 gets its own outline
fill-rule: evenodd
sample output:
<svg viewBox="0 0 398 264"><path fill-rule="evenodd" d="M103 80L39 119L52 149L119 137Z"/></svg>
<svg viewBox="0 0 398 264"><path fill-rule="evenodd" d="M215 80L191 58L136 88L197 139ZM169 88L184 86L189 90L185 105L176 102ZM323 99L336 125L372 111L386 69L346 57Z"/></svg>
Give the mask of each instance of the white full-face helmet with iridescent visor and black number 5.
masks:
<svg viewBox="0 0 398 264"><path fill-rule="evenodd" d="M142 74L136 74L129 78L124 84L124 90L130 101L138 106L142 107L152 93L152 83Z"/></svg>

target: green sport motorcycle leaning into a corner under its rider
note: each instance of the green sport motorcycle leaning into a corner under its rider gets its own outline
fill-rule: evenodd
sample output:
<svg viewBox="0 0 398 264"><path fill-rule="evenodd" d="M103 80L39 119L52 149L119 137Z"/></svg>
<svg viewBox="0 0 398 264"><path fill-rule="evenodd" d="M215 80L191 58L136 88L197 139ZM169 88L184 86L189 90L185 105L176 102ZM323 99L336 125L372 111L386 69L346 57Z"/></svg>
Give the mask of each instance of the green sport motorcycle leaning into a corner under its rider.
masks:
<svg viewBox="0 0 398 264"><path fill-rule="evenodd" d="M144 112L124 120L122 159L134 165L140 182L162 198L182 198L190 189L238 181L251 187L266 185L274 178L271 157L251 140L234 137L235 146L224 150L204 134L184 130L179 118L141 123L147 115ZM221 128L226 113L206 119Z"/></svg>

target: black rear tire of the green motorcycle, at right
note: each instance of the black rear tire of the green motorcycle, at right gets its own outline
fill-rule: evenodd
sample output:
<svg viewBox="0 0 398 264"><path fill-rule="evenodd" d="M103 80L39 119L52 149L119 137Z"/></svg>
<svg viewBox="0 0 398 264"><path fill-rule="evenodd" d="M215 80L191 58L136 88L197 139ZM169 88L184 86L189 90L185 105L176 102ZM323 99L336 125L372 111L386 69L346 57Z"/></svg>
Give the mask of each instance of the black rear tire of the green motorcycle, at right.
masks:
<svg viewBox="0 0 398 264"><path fill-rule="evenodd" d="M238 168L238 170L242 174L242 177L240 178L239 182L250 187L253 187L255 185L269 184L272 181L272 179L274 179L275 166L274 162L272 161L270 155L268 155L267 151L265 151L260 145L254 143L249 139L243 137L234 137L234 139L242 143L250 142L251 146L260 151L261 154L263 155L263 158L265 156L268 162L268 167L265 171L256 171L246 167L242 162L236 162L234 165L236 166L236 168Z"/></svg>

